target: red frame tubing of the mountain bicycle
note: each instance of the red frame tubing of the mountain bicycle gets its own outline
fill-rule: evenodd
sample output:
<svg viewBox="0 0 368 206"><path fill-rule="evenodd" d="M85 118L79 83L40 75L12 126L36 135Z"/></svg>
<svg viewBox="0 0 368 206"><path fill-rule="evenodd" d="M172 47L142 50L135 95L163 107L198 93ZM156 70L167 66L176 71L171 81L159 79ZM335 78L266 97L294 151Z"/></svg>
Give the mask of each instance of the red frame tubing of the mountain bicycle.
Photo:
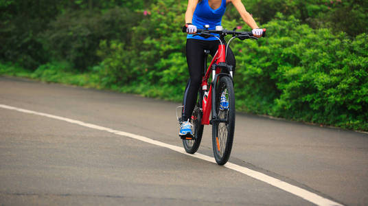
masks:
<svg viewBox="0 0 368 206"><path fill-rule="evenodd" d="M207 69L207 72L205 74L205 76L203 77L202 79L202 87L204 85L208 85L209 82L209 74L213 73L212 75L212 82L214 81L214 76L215 74L217 73L220 73L220 69L219 68L216 68L216 71L213 71L211 68L212 68L212 65L214 65L214 62L216 61L216 64L220 63L220 62L225 62L225 59L226 59L226 52L225 52L225 45L218 45L218 50L214 56L214 58L211 60L211 64L209 64L209 67ZM212 84L210 84L209 86L209 93L206 96L203 97L203 103L202 103L202 107L203 107L203 117L202 117L202 122L201 124L206 124L208 125L209 124L209 115L211 114L211 109L212 109Z"/></svg>

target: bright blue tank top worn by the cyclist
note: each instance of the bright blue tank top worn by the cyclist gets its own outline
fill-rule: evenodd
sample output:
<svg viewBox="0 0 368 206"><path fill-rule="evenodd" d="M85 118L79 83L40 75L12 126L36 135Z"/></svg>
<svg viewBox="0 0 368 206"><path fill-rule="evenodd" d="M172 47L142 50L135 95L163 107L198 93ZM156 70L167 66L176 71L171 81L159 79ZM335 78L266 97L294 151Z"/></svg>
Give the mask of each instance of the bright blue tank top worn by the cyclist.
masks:
<svg viewBox="0 0 368 206"><path fill-rule="evenodd" d="M209 6L208 0L200 1L200 3L198 3L196 6L196 10L194 10L192 23L198 29L203 29L205 25L209 25L209 30L215 30L217 25L221 25L222 16L224 16L225 10L226 0L222 0L220 8L216 10ZM188 34L187 38L196 38L207 41L217 40L217 38L214 36L203 38L202 36L198 35L193 36L193 34Z"/></svg>

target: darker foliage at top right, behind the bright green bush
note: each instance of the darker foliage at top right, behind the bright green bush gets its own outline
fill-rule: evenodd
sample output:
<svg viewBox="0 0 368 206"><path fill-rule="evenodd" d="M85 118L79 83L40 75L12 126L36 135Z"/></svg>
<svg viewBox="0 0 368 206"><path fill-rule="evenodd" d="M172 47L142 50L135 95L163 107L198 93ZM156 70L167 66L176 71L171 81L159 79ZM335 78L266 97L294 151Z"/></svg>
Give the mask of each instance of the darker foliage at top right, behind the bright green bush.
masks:
<svg viewBox="0 0 368 206"><path fill-rule="evenodd" d="M368 1L364 0L245 0L244 5L261 24L280 12L314 28L330 27L350 36L368 33ZM235 9L232 13L237 16Z"/></svg>

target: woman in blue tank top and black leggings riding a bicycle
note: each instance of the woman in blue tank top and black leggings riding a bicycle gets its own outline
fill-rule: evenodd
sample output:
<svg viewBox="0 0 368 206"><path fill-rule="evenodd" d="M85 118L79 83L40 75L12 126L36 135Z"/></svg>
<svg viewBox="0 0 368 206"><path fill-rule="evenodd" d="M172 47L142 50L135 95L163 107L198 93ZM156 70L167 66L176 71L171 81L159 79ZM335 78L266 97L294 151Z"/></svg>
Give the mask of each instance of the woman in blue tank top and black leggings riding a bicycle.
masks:
<svg viewBox="0 0 368 206"><path fill-rule="evenodd" d="M179 136L182 139L193 135L189 119L192 117L202 80L205 62L203 51L207 49L210 51L211 56L214 56L220 43L214 36L204 38L198 35L194 36L193 34L196 34L197 28L203 29L205 25L209 25L209 30L215 30L216 26L221 25L222 16L225 14L227 4L229 3L233 3L244 22L252 28L253 35L256 37L262 36L263 30L257 26L251 14L246 12L241 0L188 0L187 12L185 12L185 29L187 32L186 55L189 80L185 88L183 111L179 122ZM228 65L232 65L235 69L235 57L231 49L228 51L226 61ZM226 98L222 98L220 104L226 106Z"/></svg>

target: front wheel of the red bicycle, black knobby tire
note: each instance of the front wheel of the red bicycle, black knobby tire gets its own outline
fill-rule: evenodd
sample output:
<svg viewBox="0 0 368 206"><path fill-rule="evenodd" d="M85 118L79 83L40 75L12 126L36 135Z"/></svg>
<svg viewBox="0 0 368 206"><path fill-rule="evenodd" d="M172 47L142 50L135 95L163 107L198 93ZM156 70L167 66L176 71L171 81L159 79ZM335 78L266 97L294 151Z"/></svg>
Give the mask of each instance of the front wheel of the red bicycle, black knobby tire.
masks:
<svg viewBox="0 0 368 206"><path fill-rule="evenodd" d="M220 78L215 101L218 119L212 121L212 148L216 162L224 165L230 157L235 129L235 95L229 76Z"/></svg>

